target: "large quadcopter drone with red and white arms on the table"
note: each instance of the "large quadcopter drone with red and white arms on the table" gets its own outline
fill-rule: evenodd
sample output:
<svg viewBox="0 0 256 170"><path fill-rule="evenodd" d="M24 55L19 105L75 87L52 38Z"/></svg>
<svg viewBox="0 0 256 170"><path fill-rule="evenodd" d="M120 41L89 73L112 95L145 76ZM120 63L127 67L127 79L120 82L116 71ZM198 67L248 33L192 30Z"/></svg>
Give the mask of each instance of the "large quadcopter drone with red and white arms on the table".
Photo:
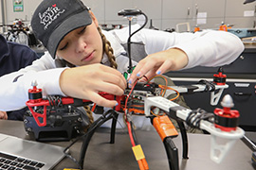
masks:
<svg viewBox="0 0 256 170"><path fill-rule="evenodd" d="M129 22L131 21L131 17L138 14L144 13L137 9L124 9L119 12L119 15L128 17ZM147 21L146 15L145 18ZM136 32L131 34L128 39L128 49L129 44L131 44L131 36ZM129 54L130 50L128 51ZM131 58L129 59L129 70L127 73L124 73L124 76L129 76L134 68L131 65ZM210 133L210 158L217 163L223 161L231 146L245 134L245 131L238 127L239 111L230 109L233 107L230 96L227 95L224 97L222 101L223 109L215 109L214 113L200 109L190 110L174 103L174 100L182 93L208 92L210 93L210 104L216 105L223 91L229 88L229 85L226 84L227 76L223 74L223 70L220 68L218 74L213 75L212 82L201 80L197 84L187 86L168 86L168 77L166 76L159 76L165 83L156 84L154 82L155 77L150 77L145 83L141 83L137 79L135 85L127 88L121 96L101 92L102 97L109 100L116 100L119 103L118 106L107 111L104 111L102 107L93 104L89 100L60 95L48 95L44 98L42 89L38 89L37 83L34 81L32 82L33 88L28 90L28 101L26 103L28 111L25 115L25 128L38 141L49 141L52 139L55 141L70 140L74 133L80 134L81 136L72 143L75 144L78 140L82 140L79 161L68 153L68 148L72 144L65 148L64 153L66 157L75 161L80 169L83 169L87 147L97 128L101 127L106 121L112 120L110 143L114 144L118 116L122 114L125 118L138 167L140 170L146 170L149 167L142 147L137 143L136 131L131 120L132 115L143 115L151 119L156 132L159 134L167 153L170 169L178 170L178 151L173 141L173 138L178 136L178 132L170 119L172 118L180 128L183 159L188 159L189 142L185 127L185 124L187 124L190 127L203 129ZM175 96L167 99L170 95ZM87 128L86 132L82 133L83 127L89 125L87 117L84 116L86 112L84 113L84 110L82 111L80 109L84 105L91 105L91 110L101 113L101 117L95 120ZM67 137L52 138L57 133L53 133L51 138L45 136L48 133L56 131L64 132L67 134ZM217 144L217 138L226 139L228 142L226 144Z"/></svg>

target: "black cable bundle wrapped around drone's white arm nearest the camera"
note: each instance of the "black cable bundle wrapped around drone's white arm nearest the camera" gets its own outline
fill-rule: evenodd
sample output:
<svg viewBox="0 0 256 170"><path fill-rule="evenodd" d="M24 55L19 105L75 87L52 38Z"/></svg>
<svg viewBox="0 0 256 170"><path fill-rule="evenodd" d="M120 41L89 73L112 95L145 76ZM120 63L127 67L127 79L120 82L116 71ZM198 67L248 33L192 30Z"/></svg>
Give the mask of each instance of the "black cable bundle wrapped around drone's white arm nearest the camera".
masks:
<svg viewBox="0 0 256 170"><path fill-rule="evenodd" d="M214 114L211 112L207 112L206 110L197 109L192 110L189 113L189 116L186 119L186 123L188 126L193 128L200 128L200 122L201 120L207 120L211 123L213 123Z"/></svg>

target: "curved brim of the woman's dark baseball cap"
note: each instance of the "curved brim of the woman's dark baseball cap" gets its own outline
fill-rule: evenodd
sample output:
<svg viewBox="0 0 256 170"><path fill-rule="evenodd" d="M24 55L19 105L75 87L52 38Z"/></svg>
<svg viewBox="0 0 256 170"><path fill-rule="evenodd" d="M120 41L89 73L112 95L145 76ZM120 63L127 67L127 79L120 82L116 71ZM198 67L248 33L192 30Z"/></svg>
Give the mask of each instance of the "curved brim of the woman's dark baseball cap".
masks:
<svg viewBox="0 0 256 170"><path fill-rule="evenodd" d="M81 26L88 26L92 24L91 16L88 10L84 10L78 14L67 18L60 26L58 26L49 37L47 42L47 50L53 59L55 59L56 51L59 43L64 39L64 36L70 31Z"/></svg>

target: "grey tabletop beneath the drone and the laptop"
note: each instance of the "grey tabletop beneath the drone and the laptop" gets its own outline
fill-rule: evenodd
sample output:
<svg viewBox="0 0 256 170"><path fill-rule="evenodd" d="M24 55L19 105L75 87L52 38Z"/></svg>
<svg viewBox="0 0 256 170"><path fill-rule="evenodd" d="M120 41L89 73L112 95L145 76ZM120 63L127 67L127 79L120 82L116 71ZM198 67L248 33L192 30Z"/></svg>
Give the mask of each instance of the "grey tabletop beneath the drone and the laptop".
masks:
<svg viewBox="0 0 256 170"><path fill-rule="evenodd" d="M12 136L28 139L23 122L0 120L0 132ZM141 144L150 169L168 170L166 152L162 141L155 130L136 130L137 141ZM253 170L251 163L252 151L241 140L238 140L229 151L228 157L221 163L210 160L210 135L188 134L189 138L189 159L182 159L181 135L174 138L174 144L178 148L179 169L180 170ZM129 135L125 129L118 129L115 144L109 144L110 133L108 128L99 128L91 139L88 146L85 160L85 170L109 170L138 169L137 161L134 158ZM66 147L68 142L52 142ZM74 144L70 148L70 153L79 159L82 142ZM58 163L54 169L78 168L78 166L68 158Z"/></svg>

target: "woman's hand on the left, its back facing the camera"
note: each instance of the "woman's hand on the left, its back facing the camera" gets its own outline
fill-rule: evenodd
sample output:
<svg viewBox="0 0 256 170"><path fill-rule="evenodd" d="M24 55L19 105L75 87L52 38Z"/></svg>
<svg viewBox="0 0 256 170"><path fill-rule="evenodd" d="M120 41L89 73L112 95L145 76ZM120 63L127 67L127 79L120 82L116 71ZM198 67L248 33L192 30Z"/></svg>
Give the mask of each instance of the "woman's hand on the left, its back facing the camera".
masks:
<svg viewBox="0 0 256 170"><path fill-rule="evenodd" d="M118 70L100 63L65 69L60 76L60 87L67 96L91 100L102 107L112 108L118 104L99 93L122 95L126 80Z"/></svg>

